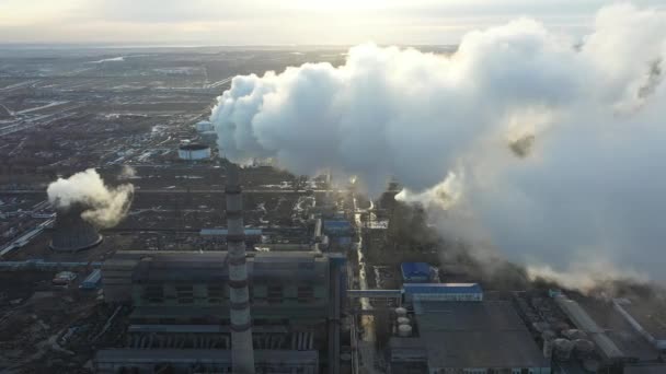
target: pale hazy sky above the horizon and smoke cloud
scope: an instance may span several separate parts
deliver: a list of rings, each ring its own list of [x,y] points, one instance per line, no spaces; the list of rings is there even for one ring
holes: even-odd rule
[[[457,44],[520,16],[585,35],[608,0],[0,0],[0,44]],[[664,0],[634,0],[664,7]]]

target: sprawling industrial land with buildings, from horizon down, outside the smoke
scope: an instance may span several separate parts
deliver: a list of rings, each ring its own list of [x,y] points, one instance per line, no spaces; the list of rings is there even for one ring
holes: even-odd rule
[[[232,78],[342,49],[1,54],[2,373],[666,372],[658,294],[485,271],[399,182],[236,170],[209,121]],[[87,170],[113,223],[50,197]]]

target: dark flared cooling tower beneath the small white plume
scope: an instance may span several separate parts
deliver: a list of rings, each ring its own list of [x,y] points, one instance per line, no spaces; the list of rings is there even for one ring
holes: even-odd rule
[[[56,209],[56,224],[50,241],[50,248],[57,252],[78,252],[102,243],[102,235],[89,222],[81,218],[85,208],[72,204],[69,208]]]

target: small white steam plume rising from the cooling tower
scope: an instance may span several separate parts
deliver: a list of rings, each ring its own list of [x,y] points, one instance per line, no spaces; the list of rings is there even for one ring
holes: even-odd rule
[[[127,214],[134,186],[108,187],[94,168],[77,173],[67,179],[48,185],[48,201],[56,209],[68,209],[80,203],[85,210],[81,217],[99,227],[113,227]]]

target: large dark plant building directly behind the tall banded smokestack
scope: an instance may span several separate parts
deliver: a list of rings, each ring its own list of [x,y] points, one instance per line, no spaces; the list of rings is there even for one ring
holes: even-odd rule
[[[317,252],[259,252],[250,254],[246,261],[257,371],[274,365],[286,373],[307,373],[312,361],[295,358],[310,352],[308,357],[317,357],[317,373],[338,373],[345,258]],[[123,301],[118,297],[122,294],[131,297],[124,301],[131,303],[134,311],[129,316],[129,343],[123,350],[142,348],[142,362],[153,362],[173,348],[205,350],[213,344],[220,358],[230,354],[227,262],[227,252],[115,254],[104,264],[103,287],[105,299]],[[284,353],[289,358],[284,361],[285,355],[279,360],[271,355],[277,361],[260,364],[265,350],[294,354]],[[122,362],[120,353],[113,357],[115,367],[138,367],[136,362]],[[172,364],[186,366],[180,357],[173,355]],[[106,360],[103,355],[100,359]],[[302,362],[302,366],[296,362]],[[208,367],[215,371],[218,366],[211,363]]]

